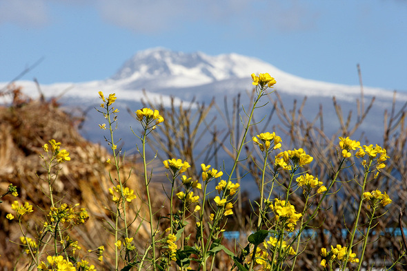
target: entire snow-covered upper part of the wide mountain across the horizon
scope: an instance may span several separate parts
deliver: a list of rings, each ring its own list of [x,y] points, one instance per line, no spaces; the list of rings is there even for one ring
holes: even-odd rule
[[[356,100],[361,98],[359,86],[300,78],[257,58],[239,54],[221,54],[219,56],[208,56],[202,52],[187,54],[161,47],[137,52],[118,69],[116,74],[106,80],[41,85],[41,91],[46,97],[63,94],[61,102],[64,105],[67,107],[79,106],[82,109],[99,105],[98,91],[103,91],[105,94],[115,93],[117,107],[121,106],[123,109],[128,107],[132,111],[139,109],[141,100],[146,100],[146,98],[152,102],[169,105],[171,101],[179,104],[189,102],[192,98],[195,98],[197,102],[209,102],[215,97],[219,101],[219,105],[222,105],[224,96],[233,98],[238,93],[246,95],[246,91],[252,89],[250,74],[265,72],[277,80],[275,89],[284,99],[284,105],[288,109],[292,105],[292,100],[301,100],[304,96],[308,96],[303,111],[304,115],[312,118],[319,110],[319,105],[322,104],[324,114],[326,114],[324,118],[332,129],[337,128],[338,125],[337,120],[329,120],[329,118],[336,118],[335,111],[332,110],[332,96],[341,102],[344,112],[349,109],[356,111]],[[6,83],[0,83],[0,89],[3,89],[5,85]],[[33,82],[21,81],[17,82],[17,85],[21,85],[26,94],[38,96],[37,86]],[[143,89],[146,89],[146,96]],[[376,102],[375,107],[370,111],[372,123],[367,123],[365,128],[376,131],[377,124],[382,127],[383,122],[378,120],[383,119],[384,109],[391,107],[393,91],[364,87],[365,99],[370,100],[373,96],[376,97]],[[175,98],[172,100],[171,97]],[[397,105],[406,101],[407,94],[397,94]],[[7,102],[7,100],[0,100],[0,102]],[[262,113],[266,114],[268,109],[263,110]],[[97,122],[97,118],[99,116],[90,115],[89,124],[85,129],[89,138],[93,137],[94,130],[97,131],[97,124],[91,123]],[[123,127],[129,127],[132,122],[131,116],[126,112],[121,115]],[[381,133],[378,134],[381,135]],[[126,136],[123,137],[126,138]]]

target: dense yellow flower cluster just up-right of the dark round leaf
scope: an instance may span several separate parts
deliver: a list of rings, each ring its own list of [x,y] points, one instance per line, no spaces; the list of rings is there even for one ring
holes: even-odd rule
[[[276,221],[282,221],[288,232],[295,230],[298,219],[302,217],[300,213],[295,211],[294,206],[285,200],[275,199],[275,204],[272,206],[272,210],[275,213]]]

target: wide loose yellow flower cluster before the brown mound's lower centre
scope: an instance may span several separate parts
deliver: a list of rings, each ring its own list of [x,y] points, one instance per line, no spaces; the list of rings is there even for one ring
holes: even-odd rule
[[[59,221],[63,223],[72,223],[74,225],[85,224],[89,219],[88,212],[85,208],[81,208],[79,211],[75,211],[75,207],[79,204],[75,204],[74,207],[68,206],[68,204],[61,204],[59,207],[51,207],[48,217],[50,221]]]

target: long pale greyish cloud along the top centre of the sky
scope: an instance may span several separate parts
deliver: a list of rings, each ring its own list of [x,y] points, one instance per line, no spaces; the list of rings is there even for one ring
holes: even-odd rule
[[[106,21],[146,34],[195,21],[246,29],[262,23],[268,30],[292,32],[315,27],[319,18],[317,12],[295,0],[283,4],[277,0],[99,0],[94,3]]]

